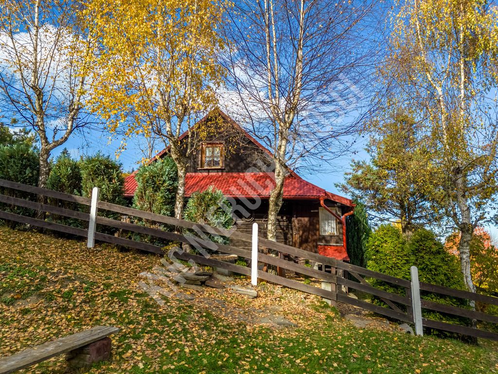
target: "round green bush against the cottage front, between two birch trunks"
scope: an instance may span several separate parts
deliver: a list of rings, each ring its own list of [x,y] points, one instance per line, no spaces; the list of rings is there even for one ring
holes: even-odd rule
[[[231,228],[234,224],[230,202],[222,191],[212,186],[203,192],[192,193],[183,216],[188,221],[219,228]],[[219,235],[208,235],[208,237],[215,243],[228,243],[227,238]]]

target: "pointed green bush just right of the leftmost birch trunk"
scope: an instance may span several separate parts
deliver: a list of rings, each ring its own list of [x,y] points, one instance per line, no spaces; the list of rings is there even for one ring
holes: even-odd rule
[[[69,152],[64,149],[57,157],[55,164],[52,166],[50,175],[47,180],[47,188],[53,189],[71,195],[81,196],[81,170],[80,165],[76,160],[73,160]],[[50,197],[48,202],[61,208],[79,211],[80,206],[76,202],[61,200]],[[87,227],[88,224],[83,223],[79,219],[65,217],[58,214],[50,214],[48,219],[52,222],[61,223],[73,227]]]

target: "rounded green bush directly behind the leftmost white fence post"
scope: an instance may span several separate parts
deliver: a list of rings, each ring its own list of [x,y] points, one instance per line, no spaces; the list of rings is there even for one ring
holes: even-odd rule
[[[125,204],[123,197],[124,178],[120,163],[99,152],[95,156],[85,157],[79,162],[79,165],[84,197],[91,197],[93,187],[99,187],[100,200],[118,205]],[[99,215],[101,214],[107,218],[120,219],[119,213],[100,209]],[[98,225],[97,231],[114,234],[117,229]]]

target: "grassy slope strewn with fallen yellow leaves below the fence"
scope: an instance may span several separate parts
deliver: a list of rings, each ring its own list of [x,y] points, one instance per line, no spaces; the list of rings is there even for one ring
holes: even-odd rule
[[[89,252],[82,242],[0,227],[0,355],[114,325],[122,329],[114,359],[91,373],[498,373],[494,343],[357,329],[291,290],[259,286],[262,297],[250,302],[216,297],[239,308],[281,305],[295,329],[248,326],[197,301],[165,299],[160,307],[137,285],[137,274],[156,264],[151,255]],[[58,357],[32,372],[66,370]]]

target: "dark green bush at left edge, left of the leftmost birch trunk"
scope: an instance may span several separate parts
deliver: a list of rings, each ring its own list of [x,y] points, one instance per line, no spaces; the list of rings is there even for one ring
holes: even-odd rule
[[[24,185],[37,186],[39,174],[38,152],[26,143],[0,146],[0,179],[22,183]],[[22,191],[0,187],[0,193],[22,199],[35,200],[36,196]],[[0,203],[0,209],[34,217],[36,211],[11,204]],[[11,228],[15,228],[18,223],[5,220]]]

